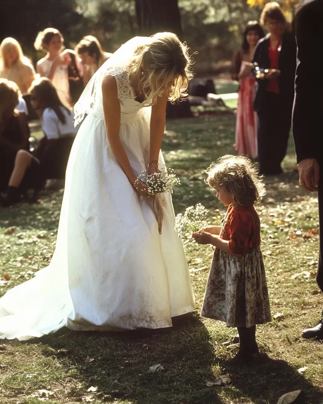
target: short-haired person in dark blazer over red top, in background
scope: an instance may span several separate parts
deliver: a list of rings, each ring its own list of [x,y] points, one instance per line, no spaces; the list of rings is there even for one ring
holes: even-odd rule
[[[286,155],[292,122],[296,41],[278,3],[266,4],[260,23],[268,34],[258,42],[253,59],[259,172],[277,175],[283,172],[281,162]]]

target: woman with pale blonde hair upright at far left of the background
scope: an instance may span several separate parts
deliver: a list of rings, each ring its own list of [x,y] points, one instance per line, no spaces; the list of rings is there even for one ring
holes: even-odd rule
[[[21,46],[14,38],[5,38],[0,45],[0,78],[15,82],[22,95],[35,79],[35,69],[23,55]]]

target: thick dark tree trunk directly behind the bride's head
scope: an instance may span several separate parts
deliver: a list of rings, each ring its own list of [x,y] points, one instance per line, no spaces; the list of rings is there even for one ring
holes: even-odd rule
[[[143,35],[156,32],[173,32],[183,40],[178,0],[135,0],[138,27]],[[167,118],[190,118],[192,116],[188,101],[171,104],[168,101]]]

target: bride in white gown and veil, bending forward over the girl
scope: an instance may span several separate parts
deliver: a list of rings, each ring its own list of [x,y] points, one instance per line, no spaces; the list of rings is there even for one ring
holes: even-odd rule
[[[75,106],[76,123],[85,119],[67,164],[54,255],[0,299],[1,338],[63,326],[170,327],[193,310],[171,196],[158,197],[161,227],[136,180],[164,164],[166,102],[187,96],[190,64],[185,44],[164,32],[126,42],[91,78]]]

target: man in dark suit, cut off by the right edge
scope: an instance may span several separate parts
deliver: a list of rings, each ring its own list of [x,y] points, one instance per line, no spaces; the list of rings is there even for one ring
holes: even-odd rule
[[[323,292],[323,0],[304,2],[296,14],[297,67],[293,136],[300,187],[318,191],[320,255],[317,284]],[[323,310],[322,310],[323,317]],[[323,338],[323,320],[302,332],[304,338]]]

